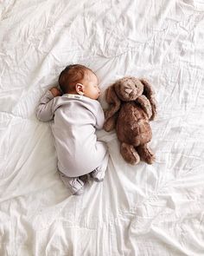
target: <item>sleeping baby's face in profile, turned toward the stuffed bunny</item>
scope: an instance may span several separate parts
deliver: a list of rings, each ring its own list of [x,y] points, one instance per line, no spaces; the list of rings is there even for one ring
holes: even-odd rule
[[[86,97],[89,97],[92,100],[97,100],[99,98],[99,81],[95,74],[91,71],[88,72],[88,75],[85,75],[81,83],[84,85],[83,92]]]

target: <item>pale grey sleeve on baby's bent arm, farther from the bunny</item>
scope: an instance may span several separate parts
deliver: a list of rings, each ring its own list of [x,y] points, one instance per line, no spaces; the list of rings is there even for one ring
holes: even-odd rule
[[[54,117],[53,112],[54,95],[48,90],[41,97],[40,103],[36,108],[36,115],[40,121],[51,121]]]

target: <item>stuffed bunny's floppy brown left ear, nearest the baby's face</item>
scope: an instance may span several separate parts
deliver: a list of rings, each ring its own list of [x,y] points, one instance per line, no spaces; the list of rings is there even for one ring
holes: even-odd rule
[[[120,108],[120,100],[115,92],[114,84],[106,90],[106,102],[110,104],[110,107],[105,111],[105,120],[111,118]]]

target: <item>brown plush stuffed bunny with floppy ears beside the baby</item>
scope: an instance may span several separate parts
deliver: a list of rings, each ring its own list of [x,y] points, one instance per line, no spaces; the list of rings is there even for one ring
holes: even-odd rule
[[[156,116],[155,92],[144,79],[124,77],[106,91],[110,108],[105,111],[105,131],[116,128],[121,141],[120,153],[124,160],[137,164],[140,159],[148,164],[155,156],[147,143],[152,138],[150,121]]]

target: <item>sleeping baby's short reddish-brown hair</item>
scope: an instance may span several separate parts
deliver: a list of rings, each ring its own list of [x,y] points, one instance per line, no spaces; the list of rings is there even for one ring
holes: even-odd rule
[[[88,69],[84,65],[68,65],[64,70],[61,71],[61,75],[59,76],[58,82],[61,87],[61,91],[64,94],[71,92],[75,83],[80,82],[80,80],[82,80],[89,71],[93,73],[92,69]]]

